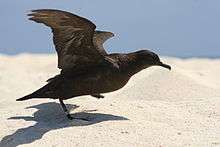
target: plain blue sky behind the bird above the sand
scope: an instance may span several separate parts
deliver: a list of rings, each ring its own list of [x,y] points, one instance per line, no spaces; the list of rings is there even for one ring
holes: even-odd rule
[[[54,53],[48,27],[29,10],[67,10],[112,31],[108,52],[152,49],[160,55],[220,57],[219,0],[1,0],[0,53]]]

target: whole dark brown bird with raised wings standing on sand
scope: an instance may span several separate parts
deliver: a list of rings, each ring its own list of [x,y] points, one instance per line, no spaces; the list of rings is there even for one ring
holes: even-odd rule
[[[45,86],[17,101],[58,99],[66,117],[77,119],[71,116],[64,100],[83,95],[104,98],[104,93],[123,88],[133,75],[151,66],[171,70],[150,50],[108,54],[103,44],[114,33],[96,30],[96,25],[84,17],[56,9],[32,10],[28,16],[51,28],[61,71]]]

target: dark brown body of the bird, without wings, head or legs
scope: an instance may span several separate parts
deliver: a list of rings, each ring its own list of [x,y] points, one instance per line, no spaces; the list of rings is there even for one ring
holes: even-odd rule
[[[136,62],[132,54],[110,54],[109,57],[119,65],[119,70],[108,64],[90,66],[78,73],[70,69],[49,79],[47,85],[25,98],[64,100],[82,95],[113,92],[124,87],[132,75],[142,69],[131,66]]]

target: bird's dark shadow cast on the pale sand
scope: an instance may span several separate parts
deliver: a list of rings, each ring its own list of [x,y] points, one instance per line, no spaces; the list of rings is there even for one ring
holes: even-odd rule
[[[78,107],[79,106],[76,105],[67,105],[67,108],[69,110],[76,109]],[[76,116],[77,118],[86,118],[89,121],[78,119],[68,120],[62,112],[62,110],[59,110],[60,104],[54,102],[35,105],[27,107],[26,109],[29,108],[38,109],[34,113],[33,117],[16,116],[8,119],[23,119],[25,121],[35,121],[36,123],[33,126],[18,129],[13,134],[5,136],[0,142],[1,147],[13,147],[22,144],[32,143],[38,139],[41,139],[45,133],[60,128],[67,128],[73,126],[88,126],[99,122],[111,120],[128,120],[125,117],[115,116],[111,114],[89,113],[96,110],[84,111],[72,115],[73,117]]]

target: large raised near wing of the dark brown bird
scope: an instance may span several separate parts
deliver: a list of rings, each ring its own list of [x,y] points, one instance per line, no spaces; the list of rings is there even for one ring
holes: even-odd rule
[[[58,68],[70,69],[97,63],[103,55],[94,47],[96,26],[89,20],[61,10],[33,10],[29,19],[49,26],[58,53]]]

